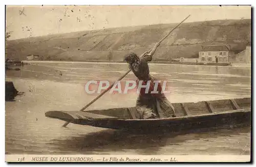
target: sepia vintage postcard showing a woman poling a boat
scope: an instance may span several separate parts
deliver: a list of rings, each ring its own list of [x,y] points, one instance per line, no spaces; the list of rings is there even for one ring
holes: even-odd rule
[[[6,6],[6,162],[251,161],[251,6]]]

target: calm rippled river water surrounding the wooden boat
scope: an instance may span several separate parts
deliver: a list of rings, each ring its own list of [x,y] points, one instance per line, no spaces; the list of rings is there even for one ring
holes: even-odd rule
[[[114,82],[127,71],[122,63],[32,63],[7,71],[25,96],[6,102],[7,154],[250,154],[250,127],[189,134],[131,134],[70,124],[45,117],[49,110],[79,110],[98,94],[87,94],[89,80]],[[250,68],[150,64],[151,74],[168,81],[172,103],[250,97]],[[62,74],[62,75],[60,75]],[[124,79],[136,80],[130,73]],[[90,109],[134,106],[136,93],[106,93]]]

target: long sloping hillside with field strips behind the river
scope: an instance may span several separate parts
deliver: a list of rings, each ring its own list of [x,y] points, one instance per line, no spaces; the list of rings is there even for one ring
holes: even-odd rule
[[[25,60],[29,54],[41,60],[121,61],[129,52],[151,49],[177,23],[81,31],[7,41],[9,59]],[[229,44],[245,49],[251,40],[251,20],[212,20],[183,23],[158,47],[154,60],[196,57],[202,45]]]

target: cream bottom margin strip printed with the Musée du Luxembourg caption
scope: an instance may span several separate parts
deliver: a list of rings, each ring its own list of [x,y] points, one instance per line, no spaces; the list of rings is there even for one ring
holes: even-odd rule
[[[249,162],[250,155],[6,155],[7,162]]]

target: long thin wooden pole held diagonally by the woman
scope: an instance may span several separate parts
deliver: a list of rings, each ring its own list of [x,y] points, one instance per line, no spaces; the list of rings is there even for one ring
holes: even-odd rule
[[[170,30],[168,32],[168,34],[166,34],[157,44],[159,45],[167,36],[169,36],[169,34],[171,32],[173,32],[177,27],[179,27],[190,15],[188,15],[186,18],[184,18],[184,20],[182,20],[175,28],[173,28],[172,30]],[[152,50],[152,49],[151,49]],[[142,55],[140,55],[140,57],[144,56],[144,53]],[[117,81],[122,80],[127,74],[129,74],[131,71],[131,69],[129,71],[127,71],[122,77],[120,77]],[[110,87],[108,89],[105,89],[102,93],[99,94],[99,96],[97,96],[95,99],[93,99],[90,103],[88,103],[86,106],[84,106],[82,109],[80,109],[80,111],[85,110],[87,107],[89,107],[91,104],[93,104],[96,100],[98,100],[100,97],[103,96],[103,94],[105,94],[107,91],[109,91],[116,82],[114,82],[112,85],[110,85]],[[62,125],[63,127],[66,127],[69,124],[69,122],[66,122],[64,125]]]

